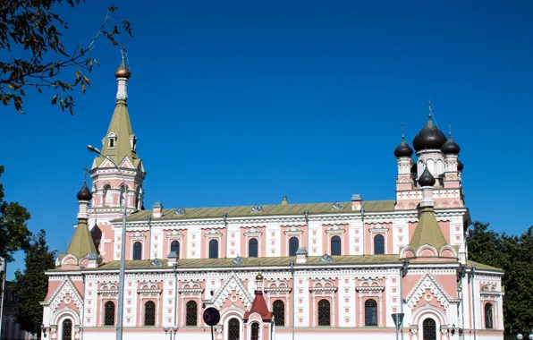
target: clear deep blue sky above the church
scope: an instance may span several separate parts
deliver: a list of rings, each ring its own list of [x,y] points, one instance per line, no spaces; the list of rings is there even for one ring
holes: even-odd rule
[[[461,145],[472,219],[508,233],[533,224],[533,2],[90,3],[61,7],[66,43],[86,44],[110,4],[133,26],[121,42],[146,208],[392,200],[402,123],[411,141],[431,98]],[[102,39],[94,56],[74,116],[53,93],[28,99],[27,115],[0,106],[6,199],[58,251],[74,232],[85,147],[101,145],[114,109],[120,52]],[[8,266],[13,277],[23,254]]]

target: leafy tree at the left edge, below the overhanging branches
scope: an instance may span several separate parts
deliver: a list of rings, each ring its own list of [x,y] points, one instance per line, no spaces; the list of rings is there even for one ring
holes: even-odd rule
[[[0,180],[4,166],[0,166]],[[0,257],[13,261],[13,252],[24,250],[30,244],[30,230],[26,222],[30,213],[18,202],[4,200],[4,184],[0,182]]]

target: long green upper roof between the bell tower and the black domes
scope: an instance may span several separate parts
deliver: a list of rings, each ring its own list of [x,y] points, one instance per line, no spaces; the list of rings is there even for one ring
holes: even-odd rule
[[[252,212],[254,206],[220,207],[220,208],[183,208],[184,215],[174,215],[176,208],[163,209],[163,217],[152,217],[152,210],[140,210],[131,214],[128,221],[146,221],[148,217],[153,220],[189,219],[189,218],[222,218],[227,217],[256,217],[273,215],[303,215],[305,210],[311,214],[325,213],[354,213],[351,202],[342,202],[343,208],[332,208],[334,202],[328,203],[301,203],[301,204],[268,204],[261,206],[262,211]],[[362,205],[366,212],[394,211],[395,200],[367,200]]]

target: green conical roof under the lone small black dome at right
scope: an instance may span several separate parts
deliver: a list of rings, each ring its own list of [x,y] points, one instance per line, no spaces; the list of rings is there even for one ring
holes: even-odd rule
[[[446,245],[443,231],[436,221],[433,208],[424,208],[420,213],[419,224],[415,229],[415,234],[410,240],[410,247],[417,251],[424,244],[432,245],[439,251]]]

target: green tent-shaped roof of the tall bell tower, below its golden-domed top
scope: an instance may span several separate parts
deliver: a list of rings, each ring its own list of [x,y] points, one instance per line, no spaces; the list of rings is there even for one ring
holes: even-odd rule
[[[113,147],[109,144],[109,136],[112,133],[115,137]],[[111,123],[109,123],[106,138],[104,139],[102,154],[111,157],[117,165],[123,161],[124,157],[128,157],[133,163],[133,166],[138,166],[140,159],[137,157],[137,151],[131,148],[131,138],[135,138],[135,135],[131,130],[128,106],[124,100],[117,100],[114,106],[113,117],[111,118]],[[97,157],[97,166],[100,166],[104,159],[104,157]]]

